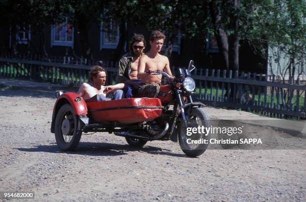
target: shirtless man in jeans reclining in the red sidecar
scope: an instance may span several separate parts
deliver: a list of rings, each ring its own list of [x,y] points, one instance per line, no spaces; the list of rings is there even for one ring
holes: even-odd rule
[[[83,97],[86,101],[105,101],[106,97],[112,100],[118,100],[122,97],[123,84],[117,84],[114,86],[104,86],[106,81],[106,71],[101,66],[93,66],[90,70],[90,80],[92,84],[83,83],[77,94]],[[112,94],[111,94],[112,93]]]

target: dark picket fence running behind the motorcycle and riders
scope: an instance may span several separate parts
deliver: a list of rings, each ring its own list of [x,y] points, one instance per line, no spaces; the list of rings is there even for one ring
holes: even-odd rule
[[[90,66],[98,63],[71,57],[38,60],[34,56],[12,58],[2,55],[0,76],[80,86],[88,81]],[[106,84],[115,83],[116,64],[107,61],[102,63],[107,71]],[[301,85],[299,80],[281,83],[277,76],[269,77],[271,81],[268,81],[267,75],[219,69],[197,69],[192,74],[197,86],[196,98],[204,104],[243,109],[278,118],[290,116],[305,119],[306,86]]]

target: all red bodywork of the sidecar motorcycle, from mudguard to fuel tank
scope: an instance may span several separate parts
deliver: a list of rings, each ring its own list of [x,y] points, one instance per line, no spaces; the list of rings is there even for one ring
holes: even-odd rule
[[[161,86],[163,92],[170,91],[170,85]],[[164,103],[169,102],[173,95],[161,96]],[[76,99],[77,98],[77,99]],[[78,101],[77,101],[78,100]],[[51,132],[54,133],[55,117],[64,104],[70,104],[75,115],[88,115],[93,123],[117,121],[130,124],[150,121],[162,113],[162,105],[158,98],[126,98],[120,100],[86,102],[77,93],[66,92],[60,95],[54,105]]]

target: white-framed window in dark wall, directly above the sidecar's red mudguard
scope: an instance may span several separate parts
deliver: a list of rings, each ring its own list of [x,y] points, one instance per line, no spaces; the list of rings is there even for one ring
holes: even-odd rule
[[[51,25],[51,47],[53,45],[73,47],[74,28],[71,24],[65,23]]]

